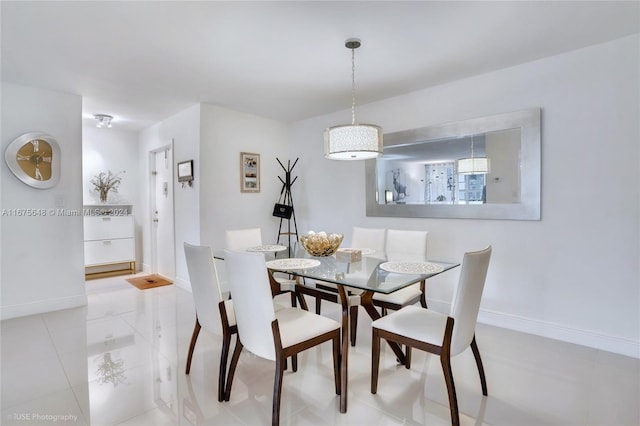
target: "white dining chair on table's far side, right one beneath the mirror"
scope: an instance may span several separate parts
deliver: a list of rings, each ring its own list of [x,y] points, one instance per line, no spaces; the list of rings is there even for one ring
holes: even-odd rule
[[[387,261],[425,261],[428,235],[427,231],[388,229],[385,242]],[[373,295],[373,304],[382,308],[383,314],[388,309],[397,311],[418,302],[426,308],[425,290],[426,283],[423,280],[390,294],[376,293]]]

